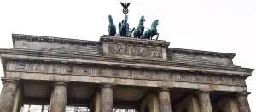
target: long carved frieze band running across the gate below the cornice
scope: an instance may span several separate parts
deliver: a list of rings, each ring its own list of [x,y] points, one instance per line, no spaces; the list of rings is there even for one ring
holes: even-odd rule
[[[194,83],[210,83],[223,85],[246,86],[244,79],[236,76],[219,76],[192,74],[162,70],[140,70],[120,67],[96,65],[68,65],[52,63],[9,62],[9,71],[41,72],[80,76],[104,76],[129,79],[145,79],[160,81],[186,81]]]

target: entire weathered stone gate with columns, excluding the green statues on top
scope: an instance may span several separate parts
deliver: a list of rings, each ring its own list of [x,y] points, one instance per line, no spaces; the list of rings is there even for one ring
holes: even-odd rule
[[[253,69],[234,53],[168,48],[169,42],[122,36],[85,41],[13,34],[0,49],[1,112],[24,104],[91,112],[250,112],[245,80]]]

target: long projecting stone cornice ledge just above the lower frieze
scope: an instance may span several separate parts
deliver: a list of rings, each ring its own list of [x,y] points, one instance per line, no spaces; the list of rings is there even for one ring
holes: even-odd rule
[[[176,70],[176,71],[184,71],[184,72],[195,72],[195,73],[204,73],[204,74],[215,74],[222,76],[242,76],[247,78],[247,76],[251,76],[251,69],[241,68],[241,70],[236,70],[236,68],[222,69],[222,68],[214,68],[214,67],[204,67],[204,66],[193,66],[193,65],[183,65],[183,64],[172,64],[168,62],[140,62],[134,60],[117,60],[113,58],[83,58],[83,59],[75,59],[68,57],[44,57],[44,56],[35,56],[35,55],[10,55],[10,54],[2,54],[3,63],[7,64],[8,61],[33,61],[33,62],[51,62],[51,63],[61,63],[61,64],[95,64],[102,66],[118,66],[118,67],[128,67],[135,69],[148,69],[148,70]],[[4,65],[4,64],[3,64]],[[6,66],[5,66],[6,67]]]

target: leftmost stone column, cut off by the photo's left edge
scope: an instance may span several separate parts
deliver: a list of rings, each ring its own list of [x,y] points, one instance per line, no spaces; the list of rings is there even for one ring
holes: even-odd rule
[[[19,82],[15,80],[4,80],[0,96],[0,112],[12,112],[15,104],[15,92]]]

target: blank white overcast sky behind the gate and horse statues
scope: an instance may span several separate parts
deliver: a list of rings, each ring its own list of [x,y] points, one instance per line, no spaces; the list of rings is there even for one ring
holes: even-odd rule
[[[171,42],[169,47],[236,53],[234,64],[256,68],[255,0],[123,2],[131,2],[130,27],[137,27],[142,15],[146,27],[160,20],[160,39]],[[108,34],[108,14],[116,25],[123,20],[119,1],[0,0],[0,48],[12,47],[11,33],[97,41]],[[0,74],[3,77],[3,70]],[[255,78],[255,72],[247,78],[252,111],[256,111]]]

